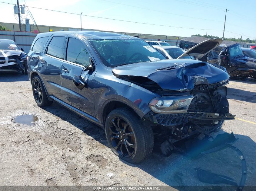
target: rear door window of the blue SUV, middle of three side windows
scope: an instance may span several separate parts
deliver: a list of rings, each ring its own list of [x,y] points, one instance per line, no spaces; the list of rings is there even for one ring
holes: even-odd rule
[[[63,50],[66,37],[53,37],[47,48],[47,54],[64,59]]]

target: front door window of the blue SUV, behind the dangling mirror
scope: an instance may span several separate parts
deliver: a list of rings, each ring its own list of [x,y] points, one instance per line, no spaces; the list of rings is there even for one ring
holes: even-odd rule
[[[90,64],[90,56],[85,45],[78,39],[69,38],[67,47],[67,61],[82,66]]]

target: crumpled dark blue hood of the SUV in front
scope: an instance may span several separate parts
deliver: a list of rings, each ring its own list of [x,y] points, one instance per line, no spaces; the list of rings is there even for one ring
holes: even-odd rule
[[[205,62],[192,59],[159,60],[115,67],[117,78],[142,84],[144,77],[155,82],[164,91],[192,90],[195,83],[214,84],[227,80],[229,75],[223,70]]]

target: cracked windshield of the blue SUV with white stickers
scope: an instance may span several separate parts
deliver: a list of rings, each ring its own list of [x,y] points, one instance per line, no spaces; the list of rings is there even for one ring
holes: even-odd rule
[[[163,60],[165,57],[141,39],[89,40],[108,67]]]

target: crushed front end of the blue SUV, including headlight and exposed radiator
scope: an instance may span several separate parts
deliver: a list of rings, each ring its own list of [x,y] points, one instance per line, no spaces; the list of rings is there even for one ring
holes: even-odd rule
[[[225,120],[234,119],[228,110],[227,83],[206,81],[180,93],[187,95],[163,96],[149,103],[152,111],[144,121],[153,126],[155,146],[160,147],[162,154],[171,154],[174,142],[200,133],[211,136]]]

